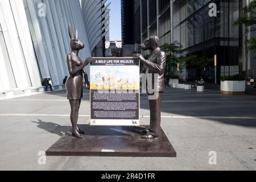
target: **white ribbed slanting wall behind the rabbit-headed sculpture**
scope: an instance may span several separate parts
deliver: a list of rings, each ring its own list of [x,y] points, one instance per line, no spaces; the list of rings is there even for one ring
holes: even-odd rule
[[[43,16],[42,5],[46,7]],[[85,43],[80,51],[85,60],[91,56],[96,32],[88,36],[79,0],[0,1],[0,92],[40,86],[46,77],[52,78],[53,85],[62,84],[69,76],[68,23],[78,28]],[[88,23],[93,27],[94,22]]]

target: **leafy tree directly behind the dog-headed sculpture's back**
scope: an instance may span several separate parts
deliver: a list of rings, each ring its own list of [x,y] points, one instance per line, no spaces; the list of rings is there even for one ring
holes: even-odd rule
[[[160,47],[164,52],[166,52],[166,69],[168,72],[171,71],[172,65],[179,63],[179,55],[183,52],[182,46],[179,42],[175,41],[171,44],[164,44]]]

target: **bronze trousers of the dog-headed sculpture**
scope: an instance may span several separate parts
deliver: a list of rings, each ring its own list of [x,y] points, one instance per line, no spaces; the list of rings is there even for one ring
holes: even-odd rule
[[[160,133],[162,98],[163,92],[159,92],[159,97],[156,100],[149,100],[150,133],[154,137],[159,137]]]

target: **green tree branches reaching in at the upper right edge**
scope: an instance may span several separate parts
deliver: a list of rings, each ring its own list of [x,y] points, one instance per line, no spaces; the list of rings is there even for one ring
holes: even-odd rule
[[[256,0],[251,1],[248,6],[243,8],[242,17],[236,20],[233,24],[234,26],[243,24],[246,29],[245,34],[256,31]],[[256,38],[247,40],[247,43],[248,50],[256,51]]]

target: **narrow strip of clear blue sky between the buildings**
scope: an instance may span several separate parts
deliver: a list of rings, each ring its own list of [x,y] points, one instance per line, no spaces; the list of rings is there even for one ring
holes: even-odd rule
[[[121,36],[121,0],[109,0],[110,5],[110,40],[122,39]]]

